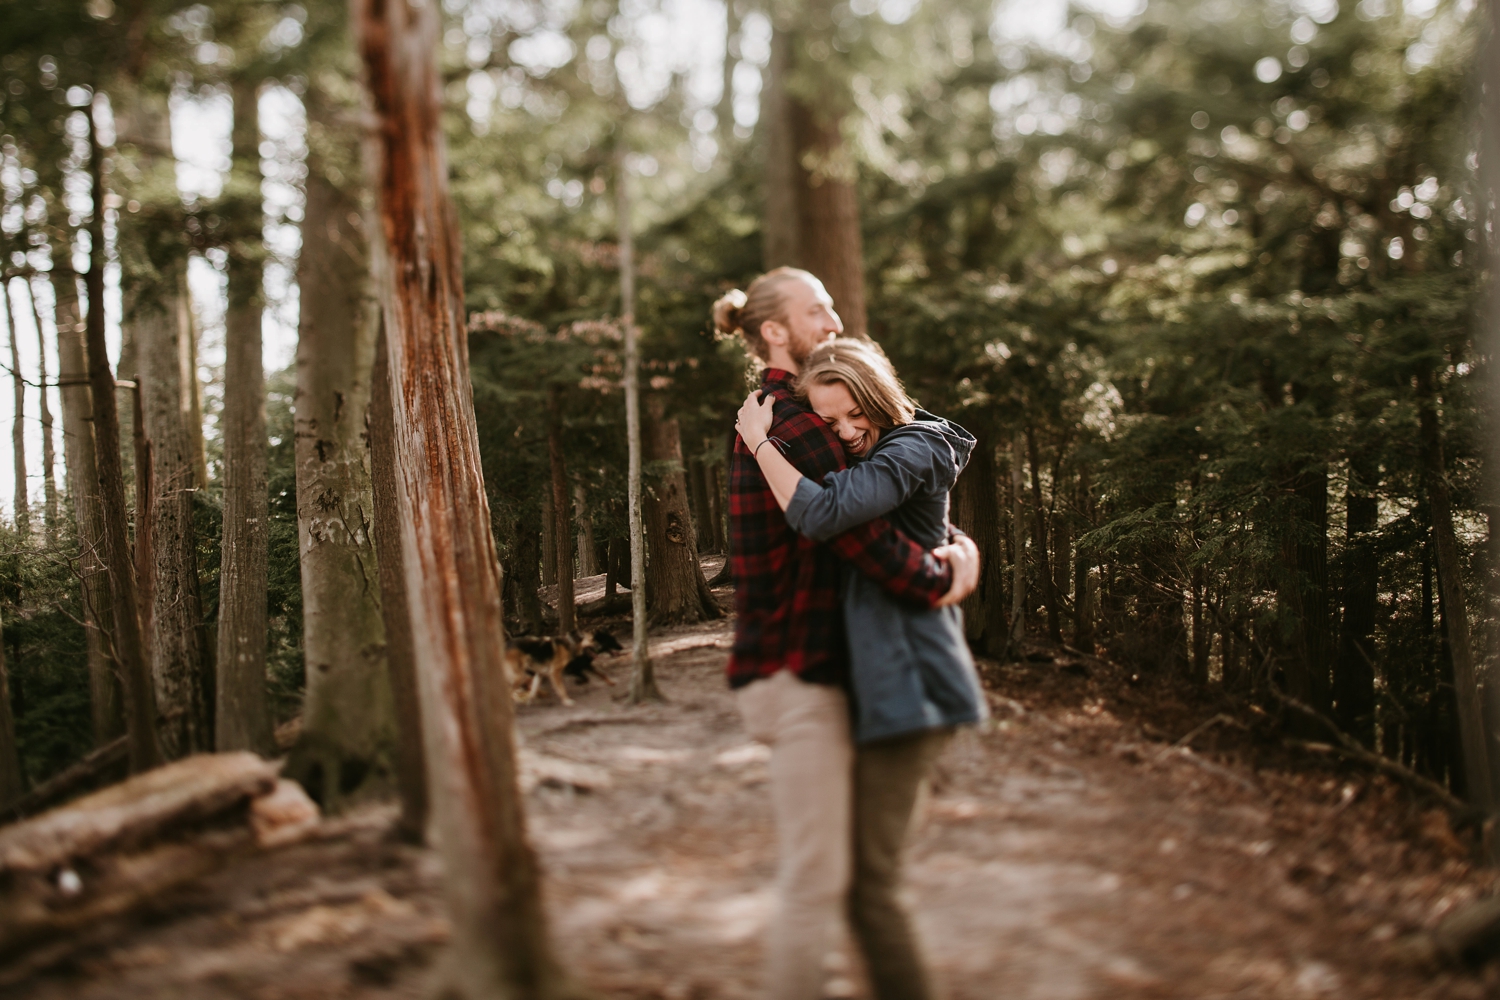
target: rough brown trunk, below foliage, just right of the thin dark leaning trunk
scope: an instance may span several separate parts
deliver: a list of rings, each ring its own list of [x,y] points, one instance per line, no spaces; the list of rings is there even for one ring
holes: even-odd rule
[[[186,274],[178,267],[168,288],[132,295],[130,324],[141,357],[141,403],[150,439],[146,531],[154,555],[152,580],[152,676],[160,712],[162,751],[168,760],[213,750],[212,702],[207,697],[206,649],[200,624],[198,546],[194,531],[194,435],[189,388],[183,382],[183,352],[190,343]],[[150,298],[147,298],[150,295]],[[186,343],[184,343],[186,342]],[[232,387],[230,387],[232,393]],[[264,483],[264,480],[262,480]],[[261,490],[264,498],[264,486]],[[264,501],[262,501],[264,502]],[[262,516],[264,523],[264,516]],[[220,580],[232,574],[240,553],[226,546]],[[220,583],[222,589],[222,583]],[[264,604],[264,595],[261,601]],[[144,616],[142,616],[144,618]],[[264,634],[262,639],[264,642]]]

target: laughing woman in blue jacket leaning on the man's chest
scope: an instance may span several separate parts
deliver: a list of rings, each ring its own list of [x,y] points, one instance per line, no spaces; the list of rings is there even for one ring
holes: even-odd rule
[[[814,349],[796,391],[834,429],[855,465],[822,484],[802,477],[776,448],[770,400],[752,393],[736,427],[788,523],[822,541],[888,517],[921,546],[944,544],[948,493],[969,460],[974,435],[918,409],[890,361],[862,340],[838,339]],[[902,844],[928,766],[956,726],[986,717],[984,697],[956,606],[904,606],[846,570],[844,619],[858,744],[849,921],[876,996],[926,1000],[932,988],[897,898]]]

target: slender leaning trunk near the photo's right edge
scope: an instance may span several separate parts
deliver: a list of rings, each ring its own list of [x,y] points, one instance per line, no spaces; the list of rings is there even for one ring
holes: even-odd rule
[[[1454,532],[1448,466],[1443,459],[1443,433],[1437,424],[1437,411],[1432,403],[1432,378],[1425,370],[1418,375],[1418,433],[1422,445],[1422,478],[1426,486],[1437,549],[1437,586],[1444,607],[1443,630],[1454,661],[1454,699],[1458,709],[1458,735],[1462,742],[1468,801],[1480,810],[1490,810],[1496,795],[1491,784],[1488,738],[1474,652],[1468,637],[1468,600],[1464,597],[1458,537]]]

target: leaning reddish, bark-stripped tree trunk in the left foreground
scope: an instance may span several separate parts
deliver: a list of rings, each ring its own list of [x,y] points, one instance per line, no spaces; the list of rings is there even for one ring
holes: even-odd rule
[[[542,873],[526,843],[500,564],[474,424],[462,247],[447,193],[438,7],[354,0],[375,127],[392,438],[428,787],[453,918],[456,991],[550,1000]]]

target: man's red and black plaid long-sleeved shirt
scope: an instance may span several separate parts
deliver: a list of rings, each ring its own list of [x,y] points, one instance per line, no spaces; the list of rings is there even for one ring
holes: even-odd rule
[[[776,397],[771,436],[798,472],[822,483],[844,468],[838,438],[792,396],[790,372],[768,369],[760,388]],[[729,459],[729,544],[735,574],[729,684],[736,688],[782,669],[816,684],[844,682],[849,654],[838,603],[840,559],[922,607],[934,606],[952,583],[946,562],[884,517],[825,544],[798,535],[738,436]]]

